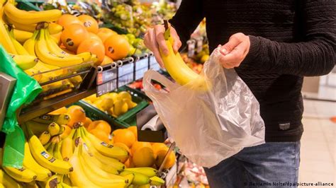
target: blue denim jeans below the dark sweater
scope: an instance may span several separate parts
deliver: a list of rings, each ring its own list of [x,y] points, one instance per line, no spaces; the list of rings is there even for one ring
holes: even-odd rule
[[[211,188],[296,187],[300,141],[244,148],[213,168],[204,168]]]

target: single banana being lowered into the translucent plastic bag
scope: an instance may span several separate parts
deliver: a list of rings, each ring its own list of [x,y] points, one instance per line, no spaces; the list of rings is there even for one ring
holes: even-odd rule
[[[191,86],[192,89],[195,90],[210,89],[211,85],[210,83],[208,83],[206,78],[192,71],[189,68],[189,66],[186,65],[183,59],[181,59],[179,53],[177,54],[174,53],[174,50],[172,48],[174,40],[170,36],[170,27],[167,28],[167,30],[164,32],[164,39],[168,47],[169,54],[165,55],[161,49],[159,50],[159,52],[162,57],[162,61],[164,63],[164,68],[167,69],[169,75],[171,75],[172,78],[174,78],[174,80],[177,81],[177,83],[181,84],[182,86],[193,81],[193,86]]]

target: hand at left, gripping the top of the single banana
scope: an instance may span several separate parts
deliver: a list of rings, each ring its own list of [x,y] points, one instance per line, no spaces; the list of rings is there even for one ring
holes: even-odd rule
[[[164,31],[164,25],[155,25],[154,28],[150,28],[147,31],[144,38],[146,47],[153,52],[155,59],[157,59],[157,62],[161,67],[164,67],[164,64],[161,55],[159,54],[159,49],[161,49],[165,55],[169,54],[166,42],[164,40]],[[179,40],[177,31],[173,27],[170,27],[170,35],[174,39],[173,50],[175,53],[177,53],[182,43],[181,40]]]

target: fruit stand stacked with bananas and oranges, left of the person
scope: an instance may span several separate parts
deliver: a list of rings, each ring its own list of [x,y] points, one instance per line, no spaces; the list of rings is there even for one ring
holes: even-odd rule
[[[0,49],[2,59],[9,61],[0,69],[5,86],[0,93],[6,94],[0,98],[0,114],[6,115],[0,119],[0,187],[178,186],[177,172],[186,167],[183,155],[174,143],[164,141],[164,128],[153,131],[161,131],[156,140],[140,127],[140,114],[152,106],[142,91],[143,75],[153,69],[172,79],[142,37],[147,26],[172,17],[174,4],[0,3]],[[196,66],[192,69],[197,72],[201,68]],[[15,109],[16,117],[9,117],[6,108],[11,107],[11,95],[22,90],[6,87],[14,76],[9,69],[33,78],[39,91]],[[7,149],[12,132],[1,132],[9,118],[24,134],[16,151],[22,158],[15,165]]]

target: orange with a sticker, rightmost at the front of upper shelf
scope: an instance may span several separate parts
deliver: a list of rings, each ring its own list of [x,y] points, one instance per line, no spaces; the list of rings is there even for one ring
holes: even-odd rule
[[[121,35],[112,35],[108,37],[105,42],[105,54],[113,60],[120,60],[125,58],[130,52],[130,44]]]

